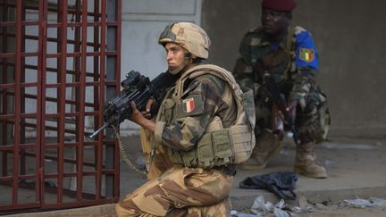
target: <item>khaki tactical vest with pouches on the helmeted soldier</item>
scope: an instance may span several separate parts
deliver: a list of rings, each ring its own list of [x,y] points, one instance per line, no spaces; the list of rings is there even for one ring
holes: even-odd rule
[[[181,103],[176,101],[182,101],[181,96],[187,79],[195,79],[204,74],[214,75],[229,84],[237,104],[236,121],[230,128],[223,129],[220,117],[214,116],[214,119],[206,127],[206,132],[199,139],[197,146],[192,150],[186,152],[170,149],[169,154],[172,163],[205,169],[243,163],[248,160],[255,147],[255,104],[252,90],[243,89],[245,90],[243,92],[230,71],[216,65],[203,64],[184,72],[177,80],[176,87],[171,90],[174,102],[168,103],[171,99],[166,96],[160,108],[160,111],[163,112],[158,115],[157,120],[164,121],[171,117],[174,105]]]

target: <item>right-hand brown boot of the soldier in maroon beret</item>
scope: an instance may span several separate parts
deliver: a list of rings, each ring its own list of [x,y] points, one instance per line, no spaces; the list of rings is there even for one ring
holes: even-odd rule
[[[314,142],[297,145],[294,171],[309,178],[327,178],[326,169],[316,160],[314,146]]]

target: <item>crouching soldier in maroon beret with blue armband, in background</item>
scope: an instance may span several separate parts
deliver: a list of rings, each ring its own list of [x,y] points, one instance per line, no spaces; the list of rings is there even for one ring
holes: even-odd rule
[[[239,46],[233,75],[240,86],[254,89],[256,104],[256,146],[242,168],[262,169],[279,152],[283,135],[277,122],[284,116],[297,145],[294,171],[327,178],[314,146],[327,136],[330,113],[315,83],[318,56],[311,33],[290,27],[295,7],[295,0],[263,0],[262,27],[248,31]],[[278,99],[285,106],[277,104]]]

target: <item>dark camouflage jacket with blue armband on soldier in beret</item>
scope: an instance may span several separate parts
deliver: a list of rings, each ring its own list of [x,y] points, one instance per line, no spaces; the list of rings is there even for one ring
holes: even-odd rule
[[[289,29],[281,43],[276,44],[270,43],[267,37],[262,29],[251,29],[244,36],[233,70],[235,78],[241,86],[256,90],[262,83],[260,73],[268,71],[281,93],[290,100],[300,100],[303,105],[305,96],[315,85],[318,71],[318,57],[311,33],[295,27]]]

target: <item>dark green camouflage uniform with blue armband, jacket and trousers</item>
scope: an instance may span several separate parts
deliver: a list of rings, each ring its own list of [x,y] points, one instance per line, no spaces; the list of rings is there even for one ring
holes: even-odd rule
[[[298,100],[296,129],[299,143],[321,142],[326,137],[325,130],[330,116],[322,122],[325,125],[321,129],[322,117],[319,112],[322,107],[324,113],[329,112],[326,97],[315,84],[318,57],[311,34],[306,29],[296,27],[289,29],[281,43],[271,44],[262,29],[251,29],[239,46],[239,57],[233,74],[240,86],[255,90],[256,148],[257,143],[265,143],[267,140],[273,144],[279,143],[278,135],[271,133],[277,128],[272,96],[261,88],[262,77],[256,72],[261,68],[271,75],[287,102]]]

